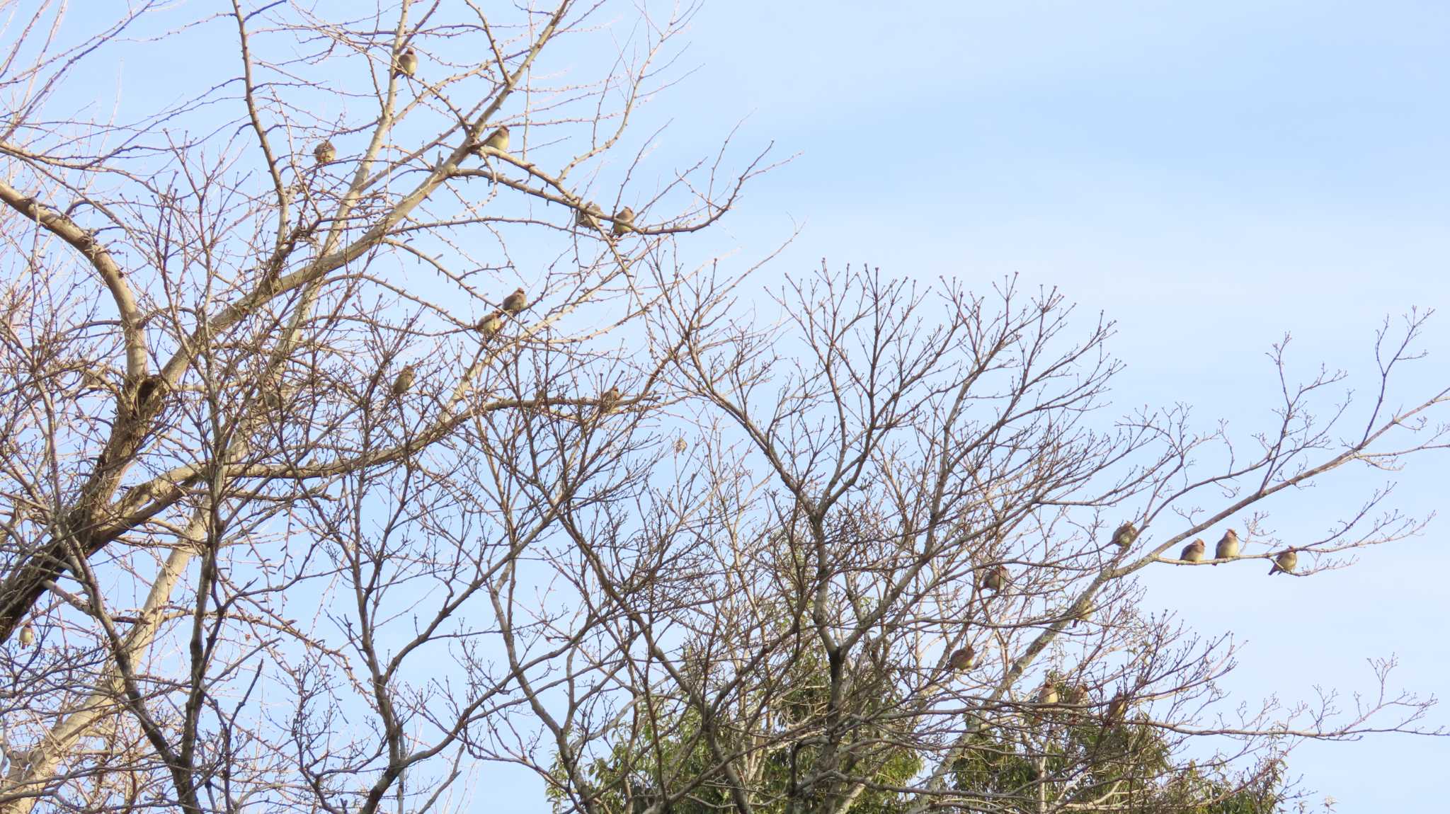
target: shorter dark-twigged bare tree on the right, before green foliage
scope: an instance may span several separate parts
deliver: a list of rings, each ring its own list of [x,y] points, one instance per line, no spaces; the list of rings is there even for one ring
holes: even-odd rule
[[[1433,417],[1450,390],[1389,406],[1422,316],[1380,332],[1380,388],[1357,410],[1333,393],[1338,374],[1293,384],[1276,348],[1279,421],[1246,455],[1183,407],[1109,420],[1112,326],[1073,336],[1056,291],[916,291],[822,268],[780,304],[784,326],[692,336],[671,365],[715,423],[705,472],[655,492],[666,519],[568,523],[589,569],[577,589],[603,595],[590,617],[621,620],[594,663],[634,642],[634,675],[560,727],[561,766],[606,779],[557,771],[561,804],[1272,811],[1295,797],[1282,773],[1296,743],[1440,733],[1421,723],[1433,700],[1393,691],[1389,663],[1353,710],[1334,695],[1222,704],[1232,642],[1147,616],[1135,581],[1267,572],[1286,550],[1306,578],[1417,533],[1385,488],[1321,539],[1282,540],[1267,517],[1312,479],[1444,448]],[[1238,552],[1179,559],[1230,526]],[[1174,762],[1190,740],[1217,758]]]

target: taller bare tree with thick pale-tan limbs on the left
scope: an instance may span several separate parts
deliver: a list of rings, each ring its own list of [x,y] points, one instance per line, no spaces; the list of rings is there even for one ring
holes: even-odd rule
[[[447,807],[564,652],[480,620],[550,500],[639,477],[642,316],[764,169],[642,180],[695,7],[0,12],[0,808]],[[139,48],[203,87],[96,117]]]

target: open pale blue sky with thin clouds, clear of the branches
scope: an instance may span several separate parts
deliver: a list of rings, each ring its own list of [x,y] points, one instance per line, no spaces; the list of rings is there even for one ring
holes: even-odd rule
[[[902,9],[732,1],[696,19],[686,90],[712,103],[661,100],[667,138],[748,114],[748,139],[800,152],[725,225],[747,258],[803,225],[767,281],[828,258],[922,282],[1058,285],[1085,327],[1098,311],[1118,323],[1122,410],[1183,401],[1241,437],[1270,417],[1264,352],[1283,333],[1301,374],[1346,368],[1366,398],[1380,320],[1450,304],[1450,6]],[[1450,313],[1422,345],[1405,401],[1443,387]],[[1276,527],[1318,534],[1386,479],[1396,505],[1443,508],[1447,472],[1446,453],[1346,471],[1276,504]],[[1247,646],[1227,688],[1250,705],[1373,691],[1366,659],[1392,655],[1392,685],[1444,695],[1447,520],[1312,579],[1270,582],[1260,562],[1157,569],[1148,604],[1234,630]],[[1380,736],[1306,744],[1290,769],[1338,811],[1428,813],[1447,762],[1444,740]]]

